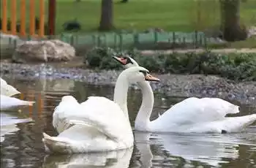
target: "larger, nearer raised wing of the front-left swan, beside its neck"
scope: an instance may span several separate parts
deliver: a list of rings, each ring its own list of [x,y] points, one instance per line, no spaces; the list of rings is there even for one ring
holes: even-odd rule
[[[83,123],[97,127],[112,140],[133,141],[133,137],[130,136],[132,129],[129,120],[118,104],[102,96],[90,96],[80,105],[83,112],[73,113],[76,115],[75,118],[70,115],[68,117],[70,123]],[[78,119],[74,122],[76,118]]]

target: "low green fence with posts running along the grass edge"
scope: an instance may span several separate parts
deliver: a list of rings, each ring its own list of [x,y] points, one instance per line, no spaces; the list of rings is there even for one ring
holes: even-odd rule
[[[101,46],[127,49],[167,49],[176,47],[206,47],[217,39],[208,38],[203,32],[157,32],[105,33],[105,34],[61,34],[60,39],[73,46]]]

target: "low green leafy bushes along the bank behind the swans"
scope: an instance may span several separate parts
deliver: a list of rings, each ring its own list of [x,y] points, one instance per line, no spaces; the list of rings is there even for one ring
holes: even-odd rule
[[[122,69],[112,56],[128,54],[151,72],[175,74],[220,75],[230,80],[256,81],[256,53],[218,54],[171,53],[141,56],[138,50],[118,51],[109,47],[95,47],[86,54],[90,68]]]

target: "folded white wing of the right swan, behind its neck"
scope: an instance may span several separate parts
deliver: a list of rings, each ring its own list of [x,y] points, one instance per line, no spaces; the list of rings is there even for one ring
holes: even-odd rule
[[[161,127],[184,126],[223,120],[228,113],[238,112],[238,106],[222,99],[192,97],[173,105],[153,123]]]

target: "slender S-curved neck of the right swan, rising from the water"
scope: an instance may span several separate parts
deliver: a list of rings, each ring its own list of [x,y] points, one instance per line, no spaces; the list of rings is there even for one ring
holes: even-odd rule
[[[140,110],[135,119],[135,129],[141,131],[149,131],[150,115],[154,106],[154,93],[152,91],[151,85],[148,82],[138,83],[139,88],[142,93],[142,103]]]

